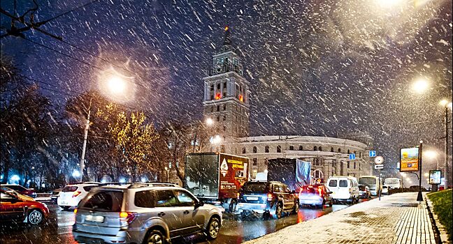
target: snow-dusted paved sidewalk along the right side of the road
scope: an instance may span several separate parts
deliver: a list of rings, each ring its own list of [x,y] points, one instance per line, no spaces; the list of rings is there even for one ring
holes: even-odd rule
[[[416,199],[406,192],[365,201],[246,243],[436,243],[425,201]]]

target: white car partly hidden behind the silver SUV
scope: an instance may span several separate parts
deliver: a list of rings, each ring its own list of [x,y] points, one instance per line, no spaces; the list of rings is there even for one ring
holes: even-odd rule
[[[94,187],[99,185],[92,183],[81,183],[75,185],[66,185],[57,198],[57,204],[64,210],[78,206],[82,200]]]

